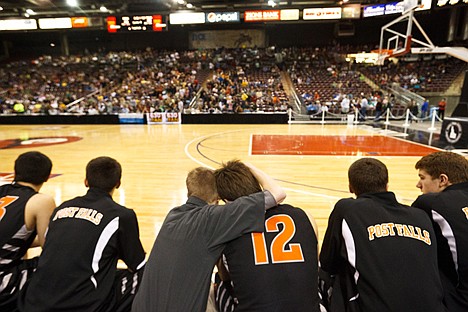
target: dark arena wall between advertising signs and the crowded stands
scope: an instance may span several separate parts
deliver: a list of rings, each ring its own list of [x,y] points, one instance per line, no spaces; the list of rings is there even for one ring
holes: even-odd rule
[[[447,45],[447,34],[451,11],[432,9],[418,12],[416,17],[435,45]],[[279,23],[239,23],[235,25],[169,25],[168,31],[160,33],[117,33],[102,30],[61,30],[35,32],[0,32],[0,40],[8,47],[10,57],[35,57],[43,54],[60,55],[60,42],[67,37],[70,54],[85,51],[95,52],[138,50],[146,47],[156,49],[187,50],[189,36],[194,31],[246,30],[265,31],[266,45],[278,47],[310,47],[332,43],[379,44],[381,27],[396,19],[398,15],[349,20],[354,26],[354,35],[339,36],[338,21],[299,21]],[[442,22],[444,21],[444,22]],[[436,23],[437,22],[437,23]],[[343,23],[343,21],[341,21]],[[413,27],[415,28],[415,27]],[[54,43],[55,46],[51,46]],[[4,49],[0,51],[5,53]]]

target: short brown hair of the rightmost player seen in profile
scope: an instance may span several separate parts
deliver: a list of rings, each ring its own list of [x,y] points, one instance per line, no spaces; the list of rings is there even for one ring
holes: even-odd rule
[[[433,179],[446,174],[453,184],[468,181],[468,160],[456,153],[434,152],[422,157],[414,167],[426,171]]]

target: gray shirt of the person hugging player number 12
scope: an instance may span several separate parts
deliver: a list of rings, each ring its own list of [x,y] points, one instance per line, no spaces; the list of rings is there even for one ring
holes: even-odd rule
[[[214,265],[225,244],[263,231],[265,209],[276,205],[270,192],[208,205],[197,197],[172,209],[156,238],[132,311],[206,310]]]

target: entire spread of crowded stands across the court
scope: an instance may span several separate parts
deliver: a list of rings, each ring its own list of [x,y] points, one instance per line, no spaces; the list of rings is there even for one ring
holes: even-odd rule
[[[348,53],[365,49],[148,48],[43,56],[0,67],[0,113],[286,112],[294,103],[293,93],[308,114],[322,110],[338,114],[343,112],[343,99],[350,100],[352,109],[359,107],[363,96],[375,111],[390,83],[412,92],[443,92],[466,68],[451,57],[411,56],[384,66],[346,61]],[[288,82],[292,88],[286,90]]]

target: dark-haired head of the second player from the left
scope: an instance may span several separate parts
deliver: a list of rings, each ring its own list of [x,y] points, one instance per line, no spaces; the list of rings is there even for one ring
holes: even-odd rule
[[[117,160],[101,156],[86,165],[86,186],[111,192],[120,186],[122,166]]]

